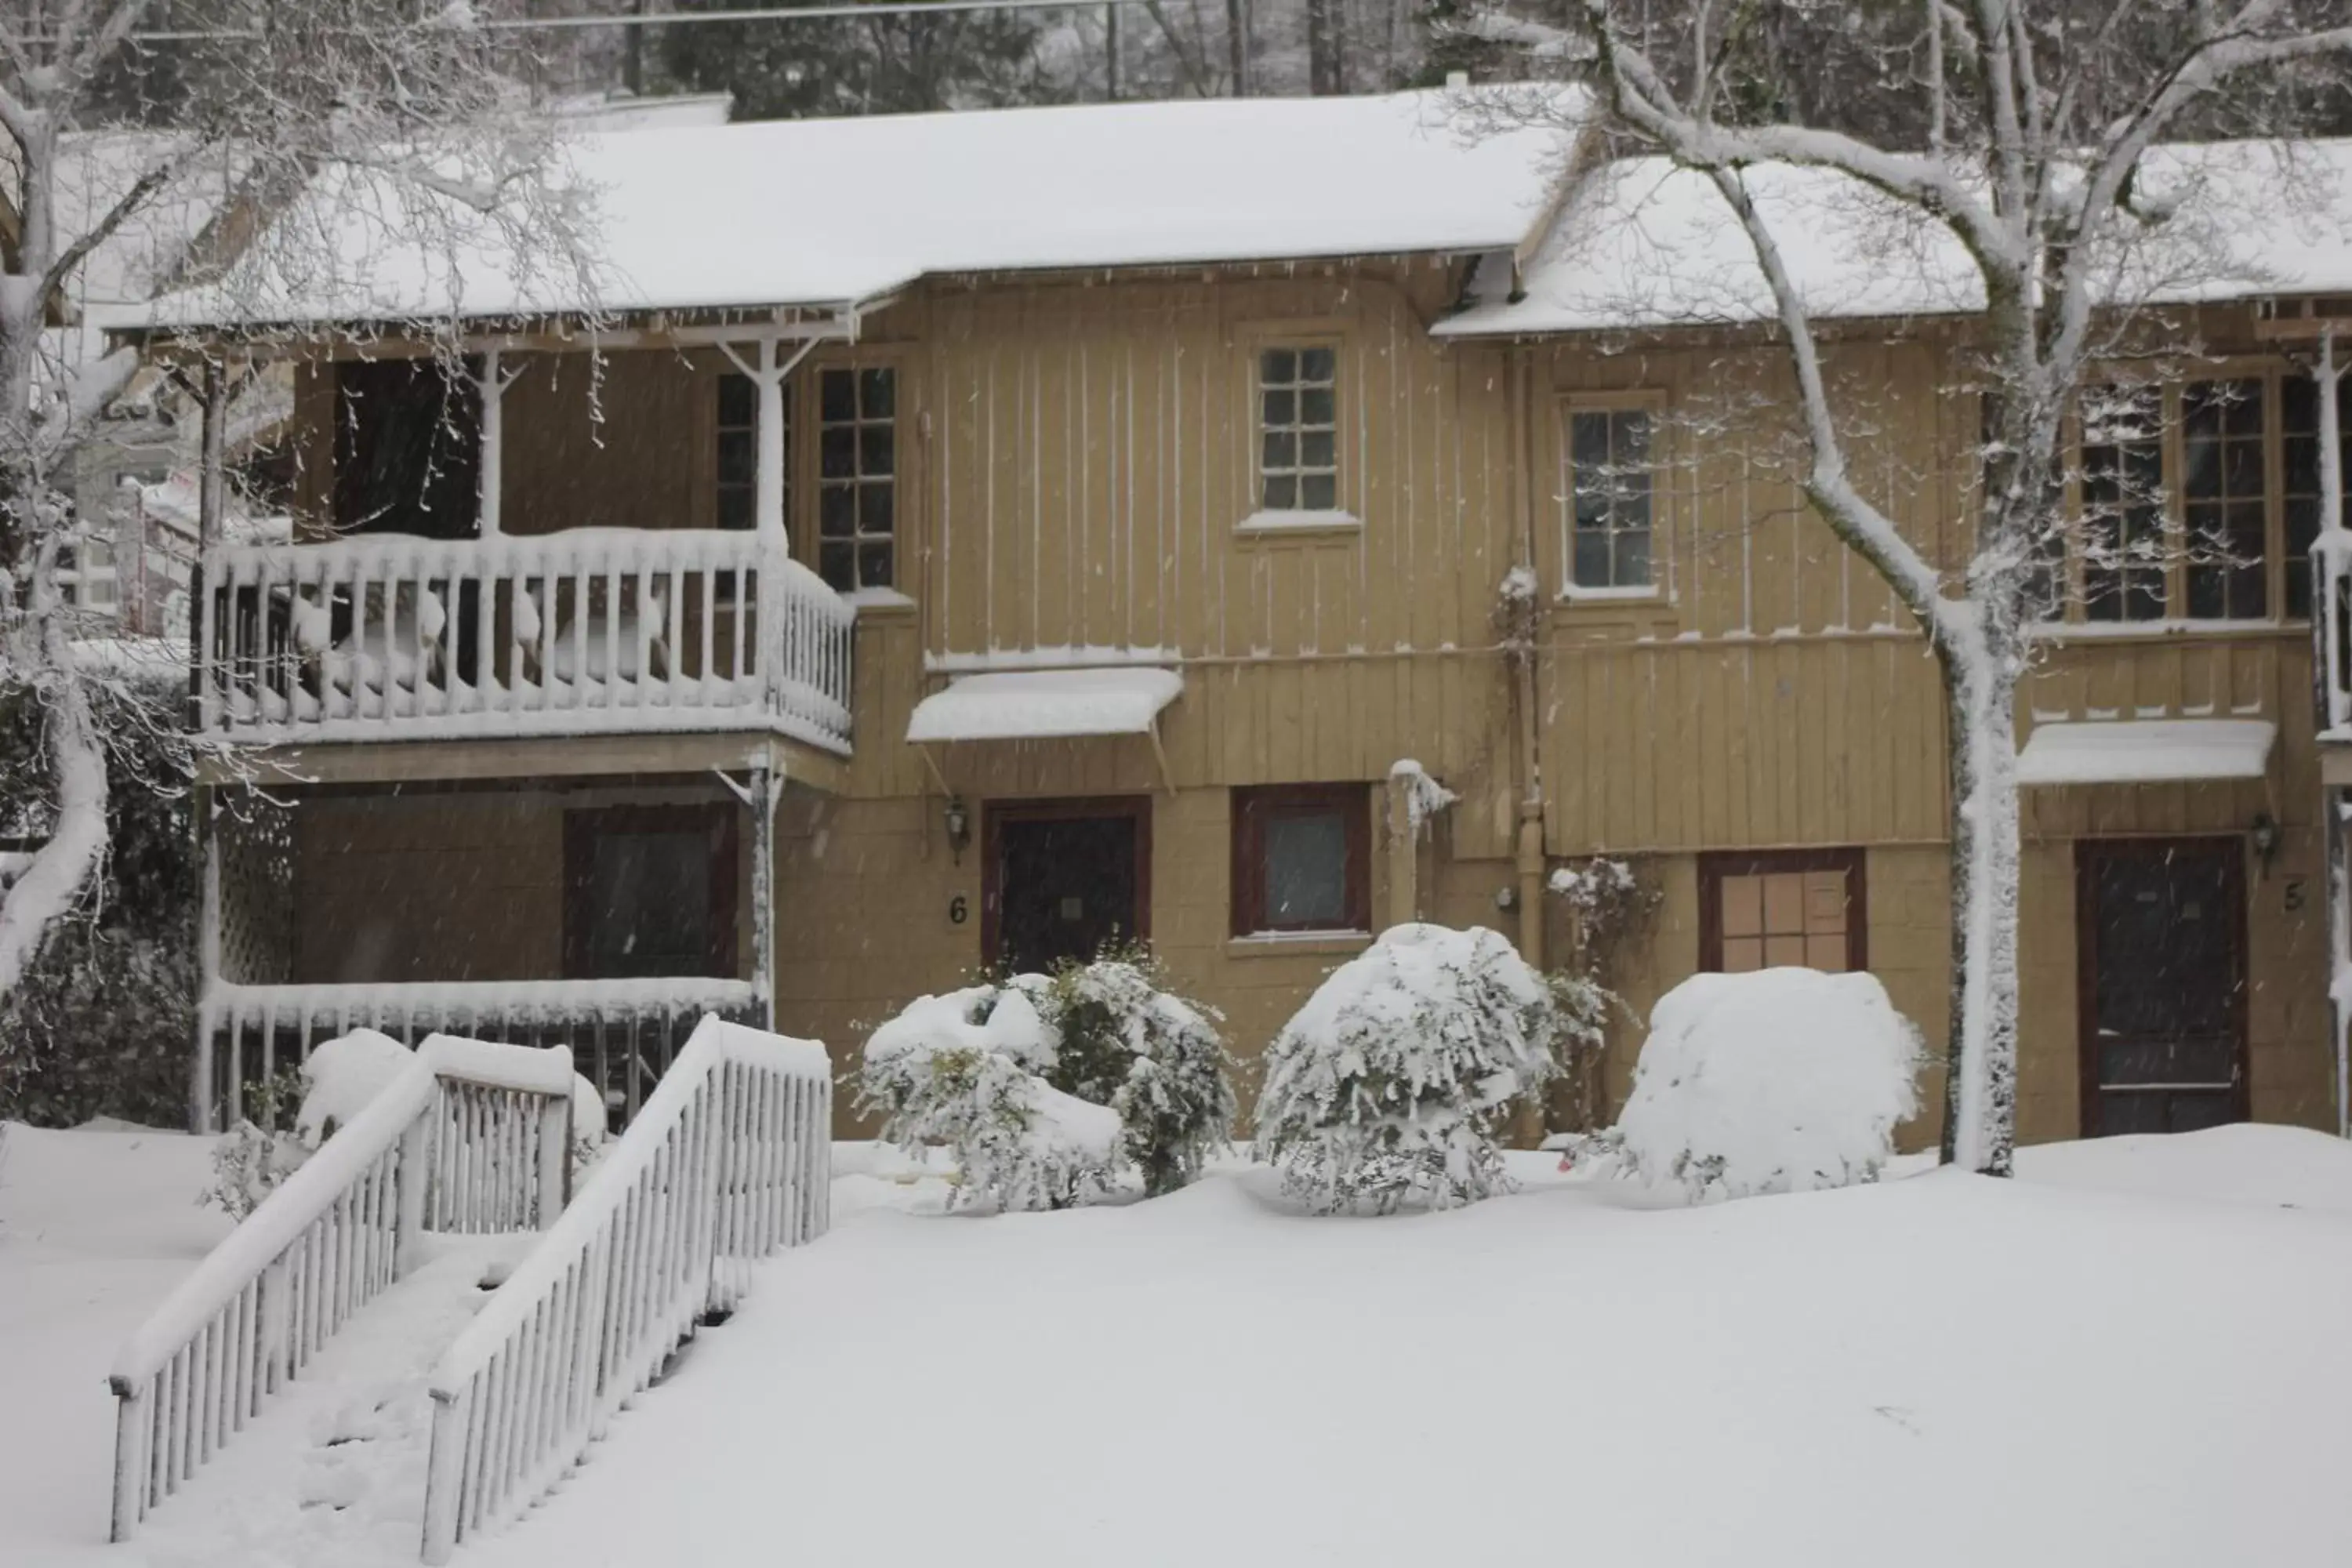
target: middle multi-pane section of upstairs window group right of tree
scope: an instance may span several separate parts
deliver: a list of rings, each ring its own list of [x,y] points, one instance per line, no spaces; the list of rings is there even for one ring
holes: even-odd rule
[[[2180,522],[2187,529],[2190,616],[2270,614],[2263,383],[2197,381],[2180,395]]]

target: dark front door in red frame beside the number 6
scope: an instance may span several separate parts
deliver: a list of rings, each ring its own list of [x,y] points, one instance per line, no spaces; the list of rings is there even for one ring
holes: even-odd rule
[[[1044,971],[1145,936],[1150,820],[1127,797],[988,806],[988,959]]]

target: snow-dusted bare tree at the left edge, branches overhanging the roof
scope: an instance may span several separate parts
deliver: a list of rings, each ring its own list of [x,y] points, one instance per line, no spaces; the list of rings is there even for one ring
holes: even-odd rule
[[[139,710],[78,654],[89,628],[61,585],[85,538],[75,454],[141,374],[78,320],[80,270],[136,244],[165,259],[153,282],[238,320],[296,289],[360,296],[372,247],[348,240],[367,226],[405,261],[489,244],[593,287],[593,205],[564,188],[513,49],[468,0],[0,5],[0,703],[38,705],[52,780],[47,842],[0,903],[0,994],[106,853],[113,715]],[[320,188],[334,212],[308,212]],[[306,221],[275,221],[294,197]],[[454,341],[447,310],[397,324]]]

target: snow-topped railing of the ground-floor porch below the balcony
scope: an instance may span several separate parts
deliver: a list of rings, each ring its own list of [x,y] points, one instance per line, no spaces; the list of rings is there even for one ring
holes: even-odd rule
[[[207,1117],[233,1126],[247,1081],[308,1058],[322,1039],[367,1027],[414,1046],[440,1032],[572,1046],[581,1077],[628,1119],[703,1013],[746,1023],[757,1006],[750,980],[701,976],[393,985],[216,980],[198,1006],[198,1081]]]

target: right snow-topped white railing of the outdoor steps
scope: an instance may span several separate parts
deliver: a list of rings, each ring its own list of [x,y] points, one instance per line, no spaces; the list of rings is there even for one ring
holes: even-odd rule
[[[543,1497],[750,1262],[826,1229],[826,1048],[706,1018],[433,1371],[423,1561]]]

